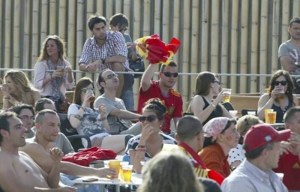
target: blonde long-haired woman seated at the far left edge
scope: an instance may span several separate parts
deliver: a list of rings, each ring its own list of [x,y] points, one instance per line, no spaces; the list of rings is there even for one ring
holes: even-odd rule
[[[27,76],[22,71],[9,70],[4,75],[3,109],[8,109],[18,103],[34,106],[40,98],[39,92],[32,88]]]

